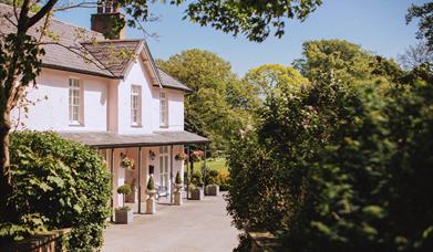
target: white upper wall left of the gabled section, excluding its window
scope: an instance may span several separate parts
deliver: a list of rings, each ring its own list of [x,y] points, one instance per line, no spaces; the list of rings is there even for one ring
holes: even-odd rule
[[[69,78],[82,81],[84,92],[83,125],[72,126],[69,122]],[[34,130],[106,130],[107,122],[107,78],[70,72],[43,69],[37,78],[38,88],[28,88],[28,98],[35,102],[30,105],[28,118],[22,109],[12,112],[12,120],[24,123],[19,129]],[[48,99],[43,99],[47,96]],[[40,99],[39,102],[37,102]],[[20,115],[21,114],[21,115]],[[20,115],[20,116],[19,116]]]

